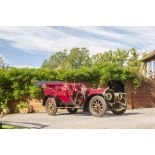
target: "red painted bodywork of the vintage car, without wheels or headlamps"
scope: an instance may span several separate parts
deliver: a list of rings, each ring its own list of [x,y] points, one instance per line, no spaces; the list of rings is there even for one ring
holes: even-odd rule
[[[73,102],[72,96],[77,92],[84,91],[88,97],[94,94],[103,95],[105,94],[106,90],[107,88],[86,88],[82,83],[47,82],[43,84],[45,96],[52,96],[54,98],[58,97],[64,104],[71,104]]]

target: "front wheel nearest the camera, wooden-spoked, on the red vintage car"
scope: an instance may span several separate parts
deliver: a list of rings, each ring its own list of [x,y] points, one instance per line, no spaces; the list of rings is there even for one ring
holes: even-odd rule
[[[89,102],[89,109],[93,116],[102,117],[106,113],[106,102],[101,96],[94,96]]]

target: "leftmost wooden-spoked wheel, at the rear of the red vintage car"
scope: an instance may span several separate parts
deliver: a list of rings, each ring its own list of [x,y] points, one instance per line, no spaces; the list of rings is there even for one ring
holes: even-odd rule
[[[56,105],[56,101],[54,98],[52,97],[49,97],[46,101],[46,112],[49,114],[49,115],[52,115],[54,116],[57,112],[57,105]]]

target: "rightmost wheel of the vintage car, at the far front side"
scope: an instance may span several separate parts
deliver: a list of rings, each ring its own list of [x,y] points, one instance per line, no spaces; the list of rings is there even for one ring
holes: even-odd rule
[[[124,99],[122,99],[121,101],[116,101],[116,103],[111,108],[111,111],[115,115],[122,115],[126,111],[126,109],[127,109],[127,103],[125,102]]]

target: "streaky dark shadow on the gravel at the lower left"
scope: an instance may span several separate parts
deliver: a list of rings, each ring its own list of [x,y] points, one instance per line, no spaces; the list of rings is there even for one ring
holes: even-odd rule
[[[3,124],[7,125],[14,125],[17,127],[23,127],[25,129],[43,129],[48,127],[48,125],[43,125],[39,123],[30,123],[30,122],[10,122],[10,121],[3,121]]]

